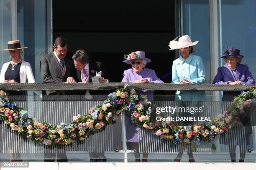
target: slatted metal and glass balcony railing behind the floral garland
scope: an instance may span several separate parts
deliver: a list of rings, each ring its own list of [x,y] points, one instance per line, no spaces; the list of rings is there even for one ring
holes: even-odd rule
[[[1,90],[114,90],[117,85],[126,83],[35,83],[35,84],[0,84]],[[243,91],[256,85],[185,85],[185,84],[147,84],[131,83],[135,89],[140,90],[236,90]],[[103,103],[107,95],[52,95],[42,96],[28,92],[26,96],[10,96],[20,107],[28,110],[28,117],[34,117],[40,122],[49,122],[58,125],[61,122],[69,123],[72,117],[78,114],[86,115],[90,108]],[[154,96],[154,104],[158,107],[185,105],[193,107],[203,106],[203,112],[197,116],[217,117],[228,109],[231,101],[187,101],[178,102],[169,100],[167,97]],[[255,112],[255,110],[253,110]],[[165,116],[171,116],[167,114]],[[170,140],[160,139],[146,129],[140,129],[138,143],[126,143],[126,133],[136,127],[129,125],[125,130],[125,113],[118,120],[113,121],[101,130],[95,130],[89,138],[76,145],[69,146],[45,146],[35,144],[27,140],[26,136],[18,136],[16,131],[11,130],[9,125],[0,124],[0,159],[1,160],[44,160],[44,159],[67,159],[72,161],[135,161],[138,157],[147,158],[148,161],[173,161],[177,154],[183,153],[182,161],[187,161],[187,151],[192,154],[196,161],[223,161],[230,162],[230,153],[246,154],[245,161],[256,161],[256,129],[239,125],[236,130],[230,132],[228,137],[212,140],[211,143],[202,142],[200,145],[174,144]],[[135,125],[136,126],[136,125]],[[126,126],[127,128],[127,126]],[[248,129],[252,130],[248,132]],[[125,142],[124,142],[125,141]],[[216,150],[212,149],[215,144]],[[232,147],[230,147],[232,146]]]

